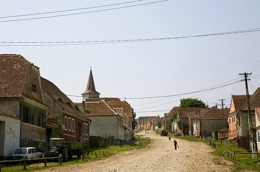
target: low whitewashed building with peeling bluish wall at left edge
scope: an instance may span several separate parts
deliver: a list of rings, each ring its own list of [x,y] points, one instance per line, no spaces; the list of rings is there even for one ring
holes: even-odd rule
[[[20,118],[0,111],[0,161],[10,159],[20,147],[20,126]]]

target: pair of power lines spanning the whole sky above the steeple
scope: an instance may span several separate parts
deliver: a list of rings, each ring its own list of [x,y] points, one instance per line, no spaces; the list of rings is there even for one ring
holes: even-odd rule
[[[168,0],[167,0],[168,1]],[[260,29],[260,28],[258,28]],[[254,32],[260,30],[248,30],[248,31],[236,31],[236,32],[225,32],[215,33],[208,35],[196,35],[196,36],[184,36],[184,37],[172,37],[172,38],[153,38],[153,39],[132,39],[132,40],[110,40],[110,41],[78,41],[78,42],[0,42],[0,43],[82,43],[82,44],[43,44],[43,45],[0,45],[0,46],[54,46],[54,45],[88,45],[88,44],[111,44],[111,43],[126,43],[126,42],[141,42],[141,41],[153,41],[153,40],[165,40],[165,39],[178,39],[178,38],[191,38],[191,37],[202,37],[212,35],[225,35],[232,33],[243,33],[243,32]]]

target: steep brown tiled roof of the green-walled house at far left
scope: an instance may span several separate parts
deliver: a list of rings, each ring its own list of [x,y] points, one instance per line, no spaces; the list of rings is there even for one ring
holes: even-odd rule
[[[0,54],[0,97],[21,98],[32,66],[19,54]]]

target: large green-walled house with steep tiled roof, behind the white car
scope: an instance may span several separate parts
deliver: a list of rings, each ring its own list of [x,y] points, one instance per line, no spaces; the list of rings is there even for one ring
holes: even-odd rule
[[[18,54],[1,54],[0,61],[0,111],[21,119],[18,133],[17,126],[11,126],[16,137],[20,136],[17,146],[45,148],[45,116],[49,107],[44,100],[39,67]],[[4,144],[2,139],[0,144]]]

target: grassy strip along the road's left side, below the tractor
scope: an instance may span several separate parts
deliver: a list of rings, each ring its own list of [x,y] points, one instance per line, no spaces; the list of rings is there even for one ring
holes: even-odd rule
[[[129,146],[110,146],[109,148],[96,148],[96,147],[85,148],[81,150],[82,155],[84,155],[84,160],[82,160],[82,157],[77,158],[76,155],[73,155],[73,158],[71,160],[68,159],[67,162],[62,162],[62,165],[82,164],[88,161],[101,160],[101,159],[108,158],[111,155],[116,154],[118,152],[145,148],[150,143],[149,139],[144,139],[144,138],[140,138],[140,139],[136,138],[136,141],[139,143],[121,144],[121,145],[129,145]],[[103,150],[105,155],[103,154]],[[33,161],[33,164],[26,165],[27,170],[23,169],[23,163],[12,163],[11,165],[1,164],[1,172],[41,171],[47,168],[62,166],[61,164],[59,164],[58,159],[47,161],[46,162],[47,167],[45,167],[44,163],[42,163],[41,161],[36,161],[36,162],[35,161]]]

